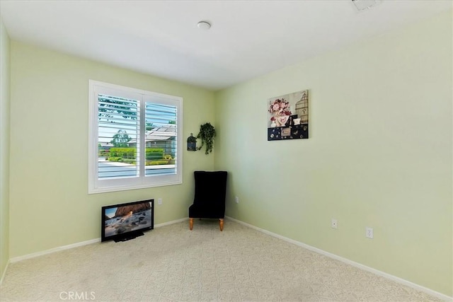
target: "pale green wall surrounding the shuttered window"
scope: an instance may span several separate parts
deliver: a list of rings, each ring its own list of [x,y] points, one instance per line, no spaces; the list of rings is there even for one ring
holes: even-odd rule
[[[162,198],[155,223],[188,216],[193,170],[214,156],[185,151],[183,184],[88,194],[88,79],[183,98],[183,141],[214,122],[214,93],[11,41],[9,257],[101,237],[101,206]]]

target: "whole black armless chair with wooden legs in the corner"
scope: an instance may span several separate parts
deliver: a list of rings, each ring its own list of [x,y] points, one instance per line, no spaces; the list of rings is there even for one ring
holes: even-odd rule
[[[219,219],[224,230],[226,171],[195,171],[195,197],[189,207],[189,228],[194,218]]]

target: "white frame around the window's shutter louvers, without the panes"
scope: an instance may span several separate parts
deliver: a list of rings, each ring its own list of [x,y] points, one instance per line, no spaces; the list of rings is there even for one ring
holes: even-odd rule
[[[89,80],[88,86],[88,194],[181,184],[183,182],[183,98],[94,80]],[[123,98],[131,98],[132,96],[134,99],[137,99],[137,95],[139,95],[142,103],[148,102],[176,106],[176,174],[145,176],[144,172],[140,171],[139,176],[134,178],[98,179],[99,93],[115,93],[115,96]],[[139,114],[143,116],[145,106],[140,107],[143,109],[141,109]],[[139,136],[142,141],[142,151],[144,151],[144,135],[145,119],[140,118]],[[144,152],[141,152],[141,154],[144,154]],[[144,167],[144,163],[141,163],[140,170],[144,169]]]

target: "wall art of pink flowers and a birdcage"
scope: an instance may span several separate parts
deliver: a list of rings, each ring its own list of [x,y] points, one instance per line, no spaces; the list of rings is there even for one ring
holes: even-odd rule
[[[268,141],[309,138],[309,91],[269,99]]]

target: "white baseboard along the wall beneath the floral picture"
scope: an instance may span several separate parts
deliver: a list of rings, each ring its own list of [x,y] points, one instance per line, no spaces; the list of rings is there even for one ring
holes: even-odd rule
[[[445,295],[445,294],[441,294],[441,293],[438,292],[438,291],[433,291],[432,289],[428,289],[428,288],[425,287],[425,286],[421,286],[421,285],[415,284],[415,283],[413,283],[413,282],[411,282],[411,281],[408,281],[408,280],[406,280],[406,279],[402,279],[402,278],[400,278],[400,277],[396,277],[396,276],[394,276],[394,275],[392,275],[392,274],[387,274],[386,272],[381,272],[381,271],[379,271],[378,269],[374,269],[374,268],[372,268],[372,267],[367,267],[366,265],[362,265],[362,264],[360,264],[360,263],[358,263],[358,262],[354,262],[354,261],[352,261],[352,260],[348,260],[348,259],[346,259],[346,258],[343,258],[343,257],[340,257],[340,256],[338,256],[338,255],[332,254],[331,252],[326,252],[325,250],[321,250],[321,249],[319,249],[319,248],[314,248],[314,247],[311,246],[311,245],[307,245],[307,244],[305,244],[305,243],[301,243],[301,242],[299,242],[299,241],[292,240],[292,239],[290,239],[290,238],[286,238],[286,237],[281,236],[281,235],[278,235],[278,234],[276,234],[276,233],[272,233],[272,232],[270,232],[270,231],[266,231],[266,230],[263,229],[263,228],[258,228],[257,226],[252,226],[251,224],[248,224],[248,223],[246,223],[246,222],[243,222],[243,221],[234,219],[234,218],[232,218],[232,217],[225,216],[225,218],[230,219],[231,221],[235,221],[235,222],[237,222],[237,223],[240,223],[240,224],[242,224],[243,226],[247,226],[248,228],[253,228],[253,229],[255,229],[256,231],[260,231],[260,232],[265,233],[265,234],[268,234],[268,235],[270,235],[270,236],[273,236],[273,237],[276,237],[276,238],[280,238],[280,239],[282,239],[282,240],[285,240],[285,241],[287,241],[287,242],[289,242],[289,243],[293,243],[293,244],[295,244],[295,245],[302,246],[302,248],[306,248],[307,250],[312,250],[312,251],[314,251],[314,252],[318,252],[318,253],[321,254],[321,255],[326,255],[327,257],[331,257],[331,258],[333,258],[333,259],[335,259],[335,260],[339,260],[339,261],[341,261],[341,262],[345,262],[345,263],[347,263],[348,265],[352,265],[353,267],[357,267],[357,268],[363,269],[363,270],[365,270],[365,271],[367,271],[367,272],[372,272],[373,274],[377,274],[377,275],[379,275],[379,276],[381,276],[381,277],[384,277],[384,278],[386,278],[386,279],[390,279],[390,280],[392,280],[392,281],[396,281],[396,282],[398,282],[399,284],[403,284],[403,285],[406,285],[406,286],[410,286],[410,287],[412,287],[413,289],[417,289],[418,291],[423,291],[423,292],[426,293],[426,294],[429,294],[429,295],[431,295],[431,296],[435,296],[435,297],[437,297],[437,298],[440,298],[440,299],[442,299],[442,301],[449,301],[449,302],[450,302],[450,301],[453,301],[453,297],[447,296],[447,295]]]

